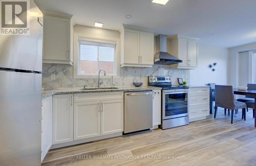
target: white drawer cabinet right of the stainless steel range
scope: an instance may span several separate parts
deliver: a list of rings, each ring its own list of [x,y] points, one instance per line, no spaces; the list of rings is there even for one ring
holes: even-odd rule
[[[210,112],[209,88],[189,90],[189,122],[206,119]]]

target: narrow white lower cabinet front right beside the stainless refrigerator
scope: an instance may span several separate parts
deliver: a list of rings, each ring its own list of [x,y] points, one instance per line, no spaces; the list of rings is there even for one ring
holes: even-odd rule
[[[42,100],[41,161],[52,146],[52,96]]]

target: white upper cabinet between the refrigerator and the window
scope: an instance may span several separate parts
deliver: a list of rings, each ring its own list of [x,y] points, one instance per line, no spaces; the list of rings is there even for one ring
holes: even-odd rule
[[[72,15],[44,12],[43,63],[73,65]]]

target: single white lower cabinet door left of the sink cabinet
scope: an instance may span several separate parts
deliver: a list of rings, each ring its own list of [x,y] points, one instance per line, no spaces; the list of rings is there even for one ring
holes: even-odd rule
[[[53,96],[52,144],[73,141],[73,94]]]

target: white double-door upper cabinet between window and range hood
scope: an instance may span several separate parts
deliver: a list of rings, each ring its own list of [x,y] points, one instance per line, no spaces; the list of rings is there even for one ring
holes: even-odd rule
[[[154,65],[154,33],[124,25],[121,30],[120,65],[152,67]]]

